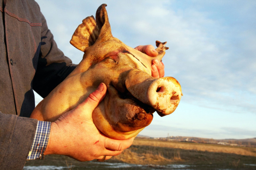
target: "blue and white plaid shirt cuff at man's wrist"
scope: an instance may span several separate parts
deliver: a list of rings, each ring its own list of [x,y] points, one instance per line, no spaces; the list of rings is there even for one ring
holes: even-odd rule
[[[45,149],[49,140],[51,122],[38,121],[37,130],[27,160],[44,159]]]

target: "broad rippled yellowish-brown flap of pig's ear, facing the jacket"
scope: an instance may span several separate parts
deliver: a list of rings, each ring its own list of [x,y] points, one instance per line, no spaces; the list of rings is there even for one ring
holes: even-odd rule
[[[70,43],[77,49],[85,51],[85,49],[93,45],[98,39],[99,28],[93,16],[83,19],[83,23],[80,24],[75,30]]]

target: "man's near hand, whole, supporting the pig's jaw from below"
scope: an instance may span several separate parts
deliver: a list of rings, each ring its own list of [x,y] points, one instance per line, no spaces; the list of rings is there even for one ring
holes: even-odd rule
[[[67,155],[79,161],[110,159],[128,148],[133,139],[115,140],[106,137],[94,125],[92,112],[106,94],[106,85],[101,83],[97,90],[75,109],[64,113],[51,124],[47,154]]]

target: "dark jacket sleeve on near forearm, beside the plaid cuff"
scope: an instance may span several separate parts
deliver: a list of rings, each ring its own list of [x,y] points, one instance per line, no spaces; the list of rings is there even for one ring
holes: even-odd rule
[[[0,112],[0,122],[0,169],[23,169],[38,120]]]

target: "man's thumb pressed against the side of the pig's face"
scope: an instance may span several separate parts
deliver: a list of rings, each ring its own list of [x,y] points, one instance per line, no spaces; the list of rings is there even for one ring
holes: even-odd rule
[[[104,83],[99,84],[98,88],[91,93],[85,101],[79,105],[79,109],[86,110],[87,113],[91,113],[97,107],[97,105],[103,100],[106,95],[107,87]]]

